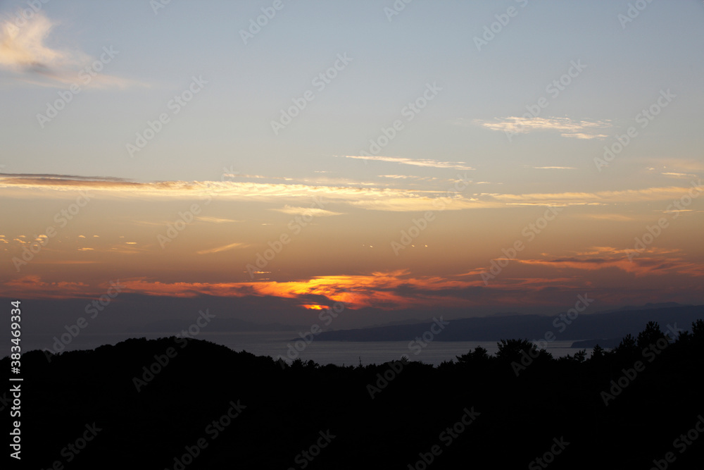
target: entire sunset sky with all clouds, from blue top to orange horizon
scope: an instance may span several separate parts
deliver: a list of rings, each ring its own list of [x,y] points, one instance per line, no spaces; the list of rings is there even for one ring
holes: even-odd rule
[[[342,305],[334,328],[701,304],[703,21],[694,0],[0,1],[2,295],[110,293],[128,323]]]

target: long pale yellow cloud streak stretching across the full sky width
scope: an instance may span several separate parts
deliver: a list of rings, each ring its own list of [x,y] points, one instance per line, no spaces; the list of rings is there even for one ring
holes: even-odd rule
[[[470,190],[447,192],[446,190],[413,190],[402,188],[353,187],[343,185],[301,185],[284,183],[248,183],[232,181],[159,181],[136,183],[122,180],[73,180],[68,178],[31,178],[23,175],[13,178],[0,175],[0,190],[5,197],[75,199],[78,191],[86,191],[91,197],[103,199],[197,199],[220,198],[222,200],[268,202],[282,204],[286,214],[310,214],[310,202],[314,197],[325,202],[347,204],[363,209],[379,211],[426,211],[438,209],[455,211],[508,206],[572,206],[628,204],[634,202],[667,201],[681,198],[692,185],[646,187],[637,190],[599,192],[556,192],[507,194],[483,192],[472,194]],[[698,184],[701,184],[699,181]],[[442,204],[439,204],[439,200]],[[284,205],[285,204],[285,205]],[[320,215],[338,215],[337,212],[322,211]],[[211,219],[210,222],[225,223],[230,219]],[[156,222],[156,221],[155,221]]]

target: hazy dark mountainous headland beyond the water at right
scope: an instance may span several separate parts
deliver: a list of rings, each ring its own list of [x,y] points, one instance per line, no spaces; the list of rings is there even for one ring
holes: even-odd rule
[[[505,338],[541,340],[552,333],[554,340],[588,340],[590,338],[623,338],[636,335],[643,324],[656,321],[663,331],[667,325],[687,330],[691,323],[704,318],[704,305],[677,307],[625,307],[617,311],[580,314],[576,319],[560,316],[512,315],[454,319],[434,335],[435,341],[498,341]],[[322,341],[410,341],[420,337],[430,323],[391,325],[355,330],[320,333]]]

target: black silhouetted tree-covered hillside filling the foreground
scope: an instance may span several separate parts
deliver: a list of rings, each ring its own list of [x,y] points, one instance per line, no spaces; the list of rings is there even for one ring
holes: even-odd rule
[[[422,359],[422,354],[418,356]],[[0,361],[10,369],[9,358]],[[704,321],[555,359],[527,340],[433,367],[286,365],[201,340],[22,358],[27,469],[691,469]],[[8,397],[10,397],[8,399]],[[11,407],[6,386],[0,406]]]

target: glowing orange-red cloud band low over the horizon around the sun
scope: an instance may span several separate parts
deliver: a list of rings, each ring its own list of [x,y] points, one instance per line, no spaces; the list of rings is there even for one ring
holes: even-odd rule
[[[551,302],[545,292],[570,292],[598,283],[597,271],[610,269],[635,276],[704,276],[704,266],[677,257],[677,253],[653,248],[629,261],[625,250],[593,247],[571,257],[515,259],[510,268],[486,285],[482,273],[471,269],[449,276],[417,276],[408,270],[360,275],[316,276],[303,280],[253,282],[172,282],[146,278],[122,279],[122,292],[155,297],[279,297],[293,299],[306,309],[324,309],[341,302],[349,309],[473,307],[480,302],[520,306],[529,302]],[[595,274],[591,274],[595,273]],[[612,274],[610,275],[612,276]],[[5,290],[34,298],[84,298],[105,292],[104,285],[81,282],[44,282],[25,276],[4,283]],[[684,285],[680,288],[690,289]],[[672,291],[672,285],[662,285]],[[677,289],[674,289],[677,290]],[[553,294],[550,295],[553,297]]]

